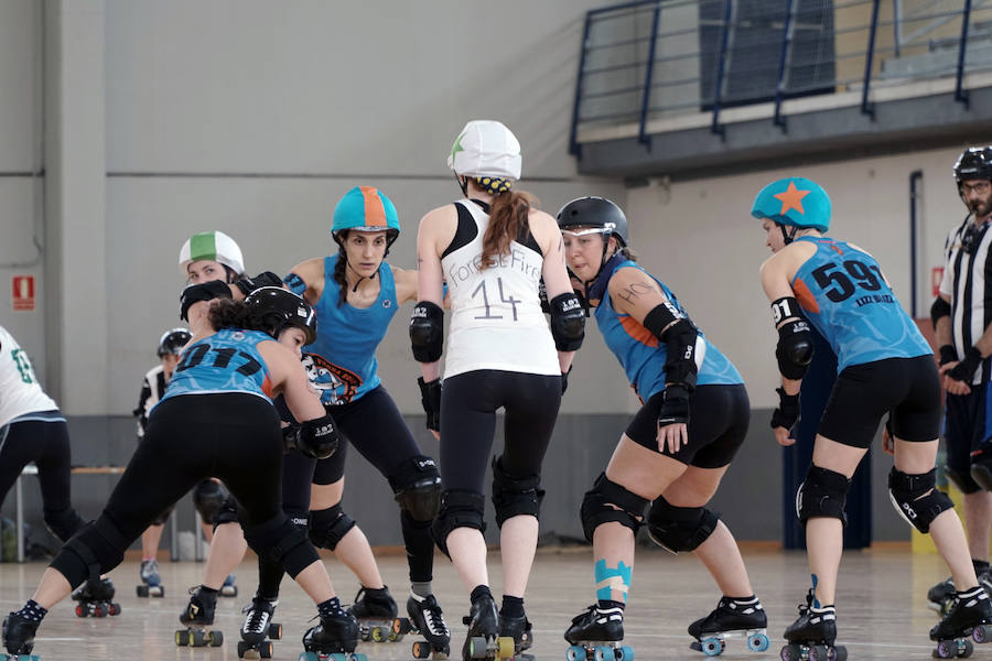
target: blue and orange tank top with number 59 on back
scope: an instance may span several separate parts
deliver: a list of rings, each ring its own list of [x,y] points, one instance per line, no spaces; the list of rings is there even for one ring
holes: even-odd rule
[[[827,237],[800,237],[817,251],[796,271],[792,291],[837,354],[837,370],[886,358],[932,354],[866,252]]]

